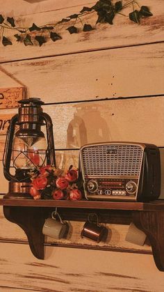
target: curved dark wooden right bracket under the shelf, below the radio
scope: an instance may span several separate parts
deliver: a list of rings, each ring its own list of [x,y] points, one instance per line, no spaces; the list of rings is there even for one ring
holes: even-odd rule
[[[149,238],[156,266],[164,271],[164,211],[134,211],[133,223]]]

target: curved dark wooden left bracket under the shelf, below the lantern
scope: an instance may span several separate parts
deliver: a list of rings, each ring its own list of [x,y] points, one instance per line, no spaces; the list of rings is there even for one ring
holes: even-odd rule
[[[3,206],[6,219],[19,225],[28,238],[31,252],[37,259],[44,259],[44,235],[42,226],[48,217],[47,208],[28,208],[21,206]]]

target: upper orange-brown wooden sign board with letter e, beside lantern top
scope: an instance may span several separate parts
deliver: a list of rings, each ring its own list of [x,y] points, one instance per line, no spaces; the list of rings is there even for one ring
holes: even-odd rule
[[[18,101],[26,97],[24,87],[0,88],[0,109],[18,107]]]

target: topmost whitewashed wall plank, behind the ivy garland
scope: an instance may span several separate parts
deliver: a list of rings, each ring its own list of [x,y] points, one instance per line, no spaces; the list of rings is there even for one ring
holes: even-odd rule
[[[81,0],[76,1],[76,3],[75,1],[72,3],[72,1],[69,0],[64,1],[63,7],[60,5],[60,8],[56,9],[56,2],[58,1],[51,1],[51,4],[49,3],[49,8],[44,6],[44,13],[35,13],[34,6],[34,10],[31,11],[31,13],[35,14],[27,15],[26,17],[18,17],[16,20],[16,25],[19,27],[30,27],[33,22],[35,22],[38,26],[43,26],[47,23],[54,24],[54,22],[58,22],[69,15],[79,13],[83,6],[91,7],[96,3],[96,1],[86,3],[87,1]],[[129,1],[124,1],[124,3],[126,2]],[[138,2],[142,5],[141,0]],[[15,6],[17,7],[16,11],[25,10],[25,4],[27,3],[22,3],[20,5],[21,8],[19,8],[19,6]],[[30,4],[27,5],[29,6]],[[60,34],[62,39],[54,43],[51,39],[49,39],[49,32],[47,32],[48,42],[44,43],[42,47],[38,47],[37,42],[34,40],[34,32],[31,33],[34,45],[26,47],[23,43],[17,43],[17,40],[14,37],[14,34],[17,33],[17,31],[14,29],[12,29],[12,31],[6,29],[3,35],[10,38],[13,45],[9,45],[8,47],[3,47],[3,45],[0,45],[0,61],[5,62],[12,61],[13,59],[31,59],[38,56],[41,57],[69,54],[73,52],[86,52],[88,50],[163,41],[163,0],[157,0],[156,4],[154,4],[153,0],[145,0],[144,5],[149,6],[153,16],[141,20],[140,25],[129,20],[128,15],[129,12],[132,11],[132,6],[126,8],[124,11],[126,17],[123,15],[115,16],[113,26],[110,24],[95,25],[97,22],[97,13],[95,12],[90,15],[85,15],[82,20],[83,24],[91,24],[94,30],[83,32],[83,25],[80,20],[77,20],[76,26],[79,29],[79,33],[74,33],[71,35],[67,31],[67,27],[74,25],[74,19],[71,22],[63,22],[62,25],[59,24],[55,29],[55,31]],[[10,11],[12,11],[12,9]],[[17,14],[17,12],[15,12],[14,8],[13,13],[10,13],[10,17],[15,14]]]

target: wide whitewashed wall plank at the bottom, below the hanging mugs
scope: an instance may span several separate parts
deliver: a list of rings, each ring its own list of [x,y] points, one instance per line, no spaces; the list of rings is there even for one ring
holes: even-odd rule
[[[151,255],[47,247],[40,261],[27,245],[0,245],[1,286],[49,292],[164,289],[163,272]]]

